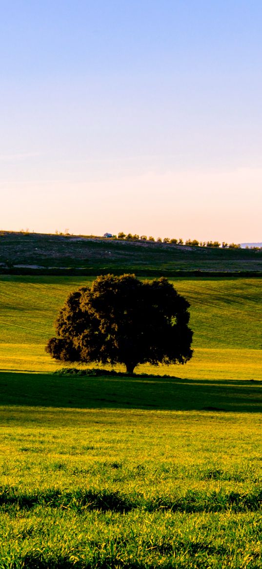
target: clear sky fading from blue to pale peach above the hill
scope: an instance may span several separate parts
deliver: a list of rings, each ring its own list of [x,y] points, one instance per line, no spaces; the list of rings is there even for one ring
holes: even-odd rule
[[[0,229],[262,241],[261,0],[0,0]]]

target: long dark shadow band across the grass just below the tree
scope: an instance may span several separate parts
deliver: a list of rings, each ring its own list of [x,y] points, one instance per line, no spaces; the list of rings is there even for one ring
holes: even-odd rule
[[[257,413],[262,382],[0,372],[0,405]]]

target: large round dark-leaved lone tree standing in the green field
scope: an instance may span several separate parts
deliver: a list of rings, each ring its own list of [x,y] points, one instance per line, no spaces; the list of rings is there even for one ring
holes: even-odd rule
[[[64,362],[185,364],[192,357],[189,303],[166,278],[97,277],[72,292],[46,351]]]

